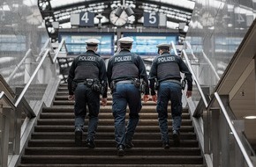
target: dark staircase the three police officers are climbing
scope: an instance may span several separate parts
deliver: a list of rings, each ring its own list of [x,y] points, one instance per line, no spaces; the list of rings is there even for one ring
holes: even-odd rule
[[[187,109],[183,113],[181,146],[173,147],[170,137],[170,148],[163,149],[155,103],[143,103],[132,141],[134,148],[126,149],[125,156],[117,156],[111,95],[108,105],[101,106],[94,149],[75,146],[74,102],[67,96],[67,84],[60,84],[52,107],[43,108],[18,167],[206,167]],[[86,134],[84,142],[85,138]]]

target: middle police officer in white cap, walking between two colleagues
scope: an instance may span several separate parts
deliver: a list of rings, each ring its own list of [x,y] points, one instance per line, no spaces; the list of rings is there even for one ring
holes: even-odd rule
[[[118,40],[120,52],[109,59],[107,76],[112,91],[112,112],[115,119],[115,139],[117,155],[124,156],[124,149],[133,147],[132,137],[139,122],[141,93],[139,80],[146,86],[143,100],[147,102],[149,88],[146,68],[138,54],[131,53],[132,38],[124,37]],[[142,82],[141,82],[142,83]],[[125,128],[125,113],[127,104],[130,109],[127,128]]]

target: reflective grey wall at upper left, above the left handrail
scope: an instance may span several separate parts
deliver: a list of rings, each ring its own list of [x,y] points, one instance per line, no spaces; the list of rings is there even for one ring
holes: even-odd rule
[[[29,48],[39,54],[48,38],[36,0],[0,0],[0,74],[5,80]],[[23,82],[25,71],[22,65],[11,84]]]

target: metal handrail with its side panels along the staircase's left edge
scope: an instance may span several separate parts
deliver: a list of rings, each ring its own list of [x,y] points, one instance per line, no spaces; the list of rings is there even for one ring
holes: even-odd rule
[[[60,82],[59,74],[56,72],[56,57],[62,47],[64,40],[56,50],[51,46],[50,40],[47,40],[37,57],[29,49],[8,77],[8,84],[4,84],[15,88],[17,97],[11,99],[7,96],[8,92],[0,92],[1,167],[15,165],[32,132],[35,120],[41,113],[42,106],[51,105]],[[20,69],[24,69],[24,73]],[[20,76],[17,73],[24,76],[22,84],[12,84],[15,77]]]

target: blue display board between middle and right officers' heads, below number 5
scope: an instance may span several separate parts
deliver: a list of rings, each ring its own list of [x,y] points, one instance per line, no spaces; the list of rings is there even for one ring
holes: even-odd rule
[[[140,55],[156,55],[157,45],[173,41],[177,44],[177,33],[124,33],[125,37],[131,37],[133,41],[132,52]]]

